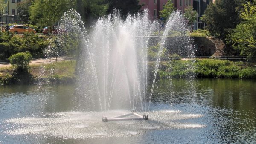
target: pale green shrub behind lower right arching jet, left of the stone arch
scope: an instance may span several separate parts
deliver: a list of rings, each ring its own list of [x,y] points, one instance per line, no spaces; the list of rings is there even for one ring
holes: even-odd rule
[[[148,60],[149,61],[154,61],[157,60],[157,54],[159,52],[160,44],[158,43],[156,46],[151,46],[148,48]],[[167,54],[167,49],[163,48],[163,53],[161,55],[161,60],[166,60],[168,59],[169,56]]]

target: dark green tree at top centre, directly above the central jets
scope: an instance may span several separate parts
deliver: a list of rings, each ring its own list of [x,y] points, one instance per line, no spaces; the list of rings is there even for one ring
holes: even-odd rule
[[[113,12],[114,9],[120,10],[122,16],[126,16],[128,13],[133,15],[137,13],[140,8],[139,0],[107,0],[108,1],[108,13]]]

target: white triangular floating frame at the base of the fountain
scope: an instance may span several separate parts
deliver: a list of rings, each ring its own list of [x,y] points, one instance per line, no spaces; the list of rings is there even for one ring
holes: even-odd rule
[[[124,118],[126,116],[130,116],[130,115],[134,115],[136,117],[134,118]],[[126,120],[148,120],[148,115],[139,115],[136,113],[135,110],[132,110],[131,113],[127,113],[124,115],[118,115],[118,116],[114,116],[111,118],[108,118],[106,116],[102,117],[102,121],[103,122],[107,122],[107,121],[126,121]]]

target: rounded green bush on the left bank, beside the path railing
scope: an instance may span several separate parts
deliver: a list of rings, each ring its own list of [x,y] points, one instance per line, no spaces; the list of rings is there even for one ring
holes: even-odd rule
[[[15,69],[26,70],[32,60],[32,55],[29,52],[19,52],[8,58]]]

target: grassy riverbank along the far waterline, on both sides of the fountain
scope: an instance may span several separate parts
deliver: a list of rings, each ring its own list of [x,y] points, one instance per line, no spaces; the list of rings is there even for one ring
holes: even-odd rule
[[[148,62],[149,76],[156,62]],[[0,84],[73,83],[76,61],[33,65],[28,74],[12,76],[12,68],[0,69]],[[256,64],[228,60],[170,60],[160,62],[157,78],[248,78],[256,79]]]

